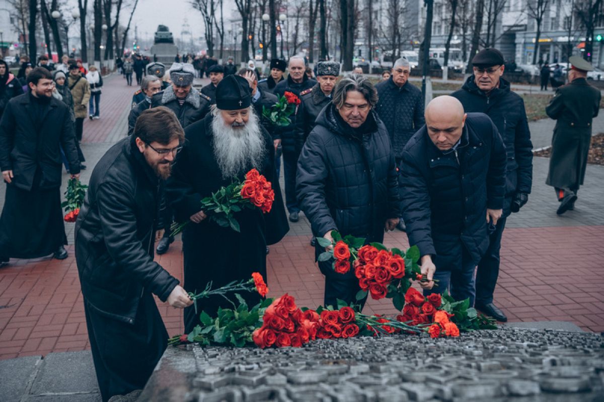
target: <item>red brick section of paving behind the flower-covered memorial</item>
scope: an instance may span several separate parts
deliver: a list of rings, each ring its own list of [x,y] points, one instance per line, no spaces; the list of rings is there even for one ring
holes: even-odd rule
[[[604,226],[507,229],[496,301],[510,321],[571,321],[604,331]],[[390,247],[406,247],[402,232]],[[72,252],[72,247],[69,247]],[[288,236],[271,247],[271,296],[290,293],[298,305],[323,301],[323,276],[307,236]],[[157,259],[182,278],[181,243]],[[181,311],[158,302],[169,333],[182,333]],[[369,300],[365,312],[393,314],[390,302]],[[74,257],[65,261],[11,260],[0,269],[0,359],[89,348]]]

